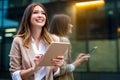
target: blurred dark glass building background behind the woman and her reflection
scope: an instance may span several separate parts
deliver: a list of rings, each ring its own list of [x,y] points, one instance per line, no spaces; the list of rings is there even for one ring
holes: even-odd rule
[[[120,0],[0,0],[0,80],[12,80],[9,51],[26,6],[42,3],[52,15],[72,18],[72,60],[78,53],[90,53],[88,63],[74,71],[75,80],[120,79]]]

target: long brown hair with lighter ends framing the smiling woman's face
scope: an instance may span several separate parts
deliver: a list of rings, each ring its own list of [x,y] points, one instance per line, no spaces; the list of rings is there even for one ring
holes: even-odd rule
[[[31,39],[30,18],[31,18],[31,15],[32,15],[32,12],[33,12],[33,9],[35,6],[42,7],[43,10],[45,11],[45,15],[47,18],[46,10],[42,4],[32,3],[32,4],[28,5],[28,7],[25,9],[25,12],[23,14],[22,21],[19,26],[17,35],[15,35],[15,36],[19,36],[19,37],[23,38],[24,46],[26,46],[30,42],[30,39]],[[41,37],[45,41],[46,44],[50,44],[52,41],[52,38],[50,37],[50,34],[48,33],[48,19],[46,19],[46,23],[42,27]]]

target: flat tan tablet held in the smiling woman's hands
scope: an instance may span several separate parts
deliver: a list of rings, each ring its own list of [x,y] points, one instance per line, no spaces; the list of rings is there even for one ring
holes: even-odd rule
[[[54,42],[48,47],[42,60],[40,60],[40,66],[53,66],[51,60],[57,56],[64,56],[64,53],[70,47],[70,43]]]

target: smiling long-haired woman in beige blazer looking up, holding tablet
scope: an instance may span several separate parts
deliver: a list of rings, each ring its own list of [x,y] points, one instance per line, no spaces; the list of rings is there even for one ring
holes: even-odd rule
[[[40,66],[47,47],[57,37],[48,33],[48,19],[42,4],[32,3],[24,12],[22,21],[10,50],[10,69],[13,80],[53,80],[64,57],[57,56],[51,62],[55,66]]]

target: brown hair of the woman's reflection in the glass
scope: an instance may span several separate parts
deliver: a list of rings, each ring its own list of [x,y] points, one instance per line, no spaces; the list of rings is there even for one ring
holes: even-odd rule
[[[68,34],[71,18],[65,14],[56,14],[52,17],[49,31],[51,34],[66,36]]]

